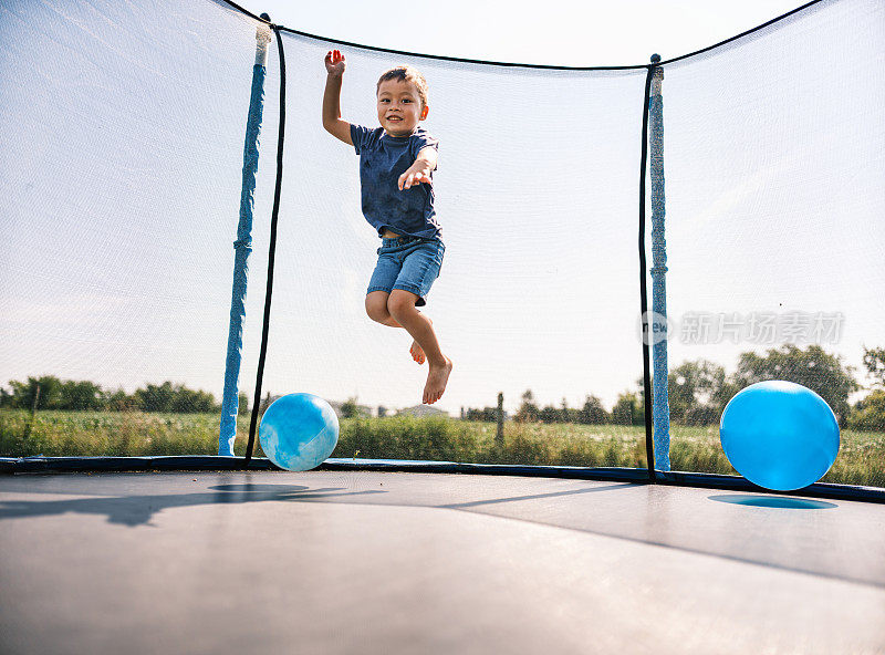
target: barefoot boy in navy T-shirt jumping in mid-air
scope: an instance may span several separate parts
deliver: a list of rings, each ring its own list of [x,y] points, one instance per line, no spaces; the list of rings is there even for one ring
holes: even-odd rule
[[[404,328],[415,340],[412,357],[429,365],[423,403],[436,403],[446,391],[451,360],[439,349],[433,322],[417,308],[439,275],[446,247],[434,211],[433,174],[438,141],[418,123],[427,117],[427,82],[410,66],[398,66],[378,80],[381,127],[369,129],[341,119],[344,55],[325,55],[329,75],[323,94],[323,127],[360,155],[363,215],[378,231],[378,262],[366,291],[373,321]]]

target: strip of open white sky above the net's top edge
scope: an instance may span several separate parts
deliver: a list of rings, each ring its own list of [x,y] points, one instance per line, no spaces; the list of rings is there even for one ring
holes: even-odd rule
[[[446,0],[397,7],[376,0],[241,2],[256,14],[267,12],[278,24],[319,37],[421,54],[576,66],[645,64],[653,53],[671,59],[729,39],[802,3]]]

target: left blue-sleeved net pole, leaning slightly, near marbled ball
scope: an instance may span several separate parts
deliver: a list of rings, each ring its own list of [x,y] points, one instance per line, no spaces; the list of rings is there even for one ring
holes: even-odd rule
[[[264,18],[262,15],[262,18]],[[261,118],[264,110],[264,74],[268,64],[270,30],[259,25],[256,31],[256,63],[252,66],[252,95],[246,123],[246,144],[242,155],[242,190],[240,220],[233,242],[233,290],[230,299],[230,328],[225,361],[225,392],[221,398],[221,426],[218,433],[218,454],[233,456],[239,412],[240,363],[242,360],[242,324],[246,318],[246,288],[249,278],[249,253],[252,252],[252,210],[254,209],[256,174]]]

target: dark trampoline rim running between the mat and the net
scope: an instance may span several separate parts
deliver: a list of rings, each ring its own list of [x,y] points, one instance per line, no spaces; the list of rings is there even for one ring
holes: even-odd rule
[[[138,472],[190,470],[242,470],[242,457],[0,457],[0,475],[46,472]],[[327,459],[319,470],[366,470],[379,472],[468,474],[485,476],[525,476],[566,478],[647,485],[644,468],[586,468],[577,466],[528,466],[512,464],[461,464],[456,461],[413,461],[406,459]],[[267,458],[252,458],[248,470],[280,470]],[[794,491],[772,491],[746,478],[720,474],[656,471],[655,482],[674,487],[697,487],[726,491],[747,491],[777,496],[827,498],[885,503],[885,489],[815,482]]]

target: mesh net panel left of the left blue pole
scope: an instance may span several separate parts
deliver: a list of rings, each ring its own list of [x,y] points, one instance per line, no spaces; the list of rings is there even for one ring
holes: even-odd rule
[[[187,453],[190,428],[154,413],[220,402],[257,22],[208,2],[13,2],[0,12],[4,402],[147,410],[96,419],[100,441],[131,435],[147,451]],[[261,216],[273,194],[273,50],[268,67]],[[251,316],[262,274],[250,281]],[[58,455],[60,430],[64,454],[105,447],[83,415],[54,418],[64,426],[40,439],[38,420],[3,455]],[[211,443],[217,422],[204,417],[201,438]]]

